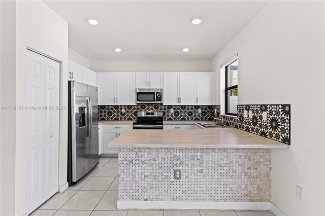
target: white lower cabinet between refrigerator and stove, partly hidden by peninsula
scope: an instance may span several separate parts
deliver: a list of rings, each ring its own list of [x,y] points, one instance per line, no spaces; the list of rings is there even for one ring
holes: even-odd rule
[[[118,148],[116,147],[107,147],[107,143],[122,135],[128,130],[133,129],[133,125],[131,124],[103,124],[102,132],[100,139],[102,140],[102,154],[118,154]]]

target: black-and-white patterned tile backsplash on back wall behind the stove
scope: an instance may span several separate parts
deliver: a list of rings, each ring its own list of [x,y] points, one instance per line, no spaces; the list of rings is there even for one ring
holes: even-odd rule
[[[125,110],[122,113],[122,109]],[[171,113],[170,110],[174,112]],[[201,109],[201,113],[199,113]],[[140,103],[138,105],[100,105],[100,121],[136,121],[138,111],[163,111],[164,120],[190,121],[190,120],[213,120],[215,116],[215,105],[163,105],[160,103]],[[217,112],[220,109],[217,109]]]

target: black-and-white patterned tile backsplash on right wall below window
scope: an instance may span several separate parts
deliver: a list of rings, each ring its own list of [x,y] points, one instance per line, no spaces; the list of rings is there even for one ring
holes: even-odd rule
[[[244,117],[244,110],[252,111],[251,119]],[[266,121],[262,112],[267,112]],[[290,145],[290,104],[237,105],[237,117],[223,118],[226,125]]]

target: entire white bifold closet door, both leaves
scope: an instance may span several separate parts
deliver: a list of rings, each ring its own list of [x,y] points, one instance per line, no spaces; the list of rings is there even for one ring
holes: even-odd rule
[[[59,63],[27,51],[26,213],[58,191]],[[54,109],[53,109],[54,106]]]

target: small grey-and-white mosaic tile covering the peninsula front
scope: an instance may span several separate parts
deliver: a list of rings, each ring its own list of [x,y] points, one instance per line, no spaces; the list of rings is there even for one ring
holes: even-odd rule
[[[118,160],[119,200],[271,201],[270,149],[122,148]]]

